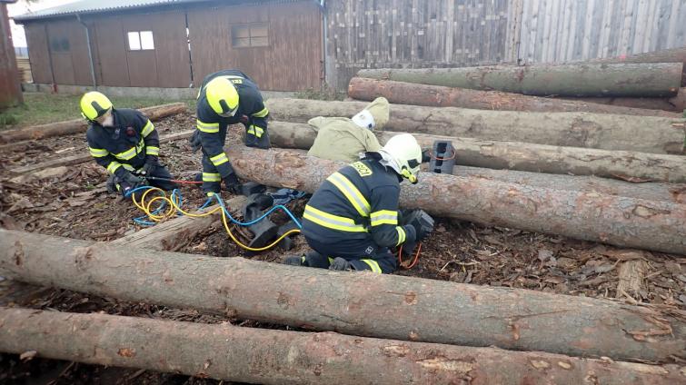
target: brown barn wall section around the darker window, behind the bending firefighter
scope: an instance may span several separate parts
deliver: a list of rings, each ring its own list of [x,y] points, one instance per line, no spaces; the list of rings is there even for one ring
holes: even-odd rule
[[[269,45],[233,48],[235,24],[269,24]],[[262,5],[218,5],[188,10],[194,83],[236,68],[263,90],[299,91],[322,84],[322,25],[313,1]]]

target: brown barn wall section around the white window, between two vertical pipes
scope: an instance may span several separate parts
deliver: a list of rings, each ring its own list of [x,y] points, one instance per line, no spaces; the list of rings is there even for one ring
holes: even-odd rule
[[[98,84],[188,87],[191,71],[183,11],[90,19]],[[153,31],[154,50],[129,50],[127,33]]]

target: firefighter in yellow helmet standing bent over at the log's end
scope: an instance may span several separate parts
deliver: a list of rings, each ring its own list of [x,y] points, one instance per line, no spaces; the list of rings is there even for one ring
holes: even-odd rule
[[[244,123],[245,145],[267,149],[268,115],[262,94],[248,75],[224,70],[204,78],[198,94],[197,130],[191,140],[203,149],[204,192],[220,192],[222,181],[232,192],[238,190],[238,177],[224,153],[226,128],[229,124]]]

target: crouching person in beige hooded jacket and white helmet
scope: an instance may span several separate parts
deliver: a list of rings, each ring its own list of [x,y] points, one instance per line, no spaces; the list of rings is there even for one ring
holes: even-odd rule
[[[307,153],[317,158],[353,163],[360,153],[378,152],[381,149],[373,129],[383,129],[388,123],[388,100],[378,97],[353,118],[317,116],[309,123],[317,130],[317,137]]]

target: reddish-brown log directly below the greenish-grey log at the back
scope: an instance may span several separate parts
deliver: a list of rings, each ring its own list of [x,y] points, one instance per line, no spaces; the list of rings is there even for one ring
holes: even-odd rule
[[[680,117],[681,114],[658,110],[628,108],[606,104],[585,103],[497,91],[478,91],[441,85],[412,84],[353,77],[348,95],[372,101],[379,96],[394,104],[427,105],[431,107],[462,107],[478,110],[532,111],[540,113],[596,113],[640,116]]]

